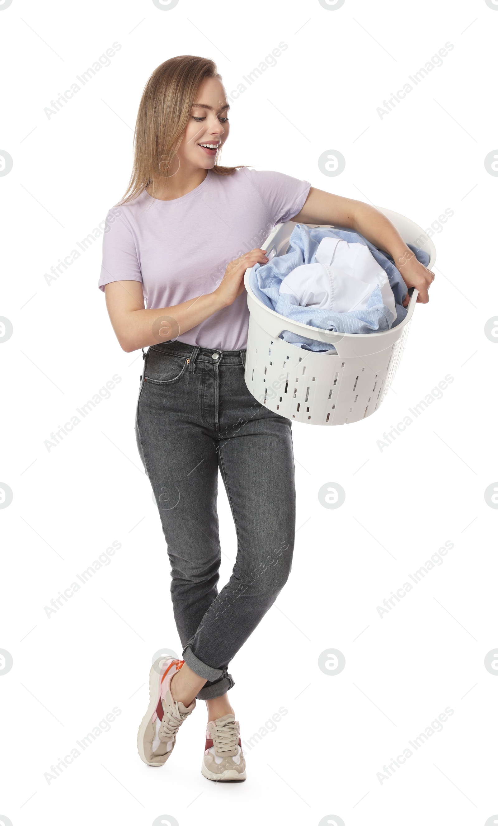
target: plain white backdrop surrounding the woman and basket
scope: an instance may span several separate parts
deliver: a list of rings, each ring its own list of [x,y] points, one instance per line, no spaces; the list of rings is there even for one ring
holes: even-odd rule
[[[498,679],[484,666],[498,643],[498,514],[484,499],[498,479],[498,348],[484,334],[498,310],[498,178],[484,166],[498,145],[498,7],[12,0],[0,25],[0,148],[13,159],[0,179],[0,314],[13,325],[1,348],[0,481],[13,501],[0,513],[0,648],[13,666],[0,679],[0,822],[498,822]],[[47,118],[50,100],[115,41],[111,65]],[[280,707],[287,714],[246,749],[248,780],[216,786],[200,771],[202,703],[165,767],[146,767],[136,751],[151,657],[162,646],[180,653],[164,537],[135,445],[141,352],[123,353],[111,330],[97,289],[100,240],[50,286],[44,273],[125,191],[140,94],[158,64],[211,57],[230,92],[281,41],[277,65],[232,104],[223,162],[306,178],[423,228],[447,208],[454,215],[434,233],[430,301],[415,308],[379,411],[349,426],[292,427],[292,575],[230,667],[244,740]],[[448,41],[443,65],[381,119],[382,101]],[[325,150],[344,154],[337,178],[318,169]],[[111,397],[49,452],[50,432],[114,374]],[[443,398],[381,452],[377,439],[447,374]],[[318,501],[327,482],[346,491],[338,510]],[[222,485],[219,509],[222,584],[236,550]],[[44,606],[113,540],[122,547],[111,564],[49,619]],[[443,564],[381,619],[377,605],[447,540]],[[340,674],[318,667],[327,647],[344,653]],[[48,783],[50,766],[115,706],[111,730]],[[448,706],[443,731],[381,783],[377,772]]]

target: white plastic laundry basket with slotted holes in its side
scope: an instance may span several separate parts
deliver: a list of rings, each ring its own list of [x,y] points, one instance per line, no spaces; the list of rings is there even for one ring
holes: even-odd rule
[[[407,243],[424,249],[434,265],[436,250],[420,226],[409,218],[377,207]],[[279,225],[266,241],[268,258],[287,252],[294,221]],[[308,225],[310,226],[310,225]],[[316,226],[316,225],[314,225]],[[421,238],[425,238],[423,244]],[[382,404],[400,363],[418,292],[410,297],[406,318],[382,333],[353,334],[319,330],[268,309],[254,295],[248,269],[244,275],[249,306],[245,383],[269,410],[307,425],[349,425],[372,415]],[[337,353],[315,353],[278,335],[290,330],[315,341],[334,344]]]

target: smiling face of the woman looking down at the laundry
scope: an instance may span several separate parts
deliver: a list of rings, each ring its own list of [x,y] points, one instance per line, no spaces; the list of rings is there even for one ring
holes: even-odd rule
[[[184,168],[212,169],[216,154],[228,138],[229,105],[218,78],[204,78],[178,149]]]

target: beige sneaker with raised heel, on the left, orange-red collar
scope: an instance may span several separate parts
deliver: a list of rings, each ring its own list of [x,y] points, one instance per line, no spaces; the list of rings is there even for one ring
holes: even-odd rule
[[[183,662],[173,657],[159,657],[150,669],[149,708],[137,738],[140,757],[148,766],[164,765],[173,752],[178,729],[196,707],[195,700],[188,706],[173,700],[169,691],[171,678]]]

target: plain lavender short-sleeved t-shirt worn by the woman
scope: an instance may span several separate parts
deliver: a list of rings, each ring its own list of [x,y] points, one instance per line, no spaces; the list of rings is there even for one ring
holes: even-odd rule
[[[264,249],[273,226],[301,210],[310,186],[279,172],[244,168],[226,176],[209,171],[200,186],[173,201],[142,192],[107,214],[98,286],[103,291],[111,281],[140,281],[148,310],[213,292],[230,261]],[[244,349],[248,325],[244,291],[177,340]]]

